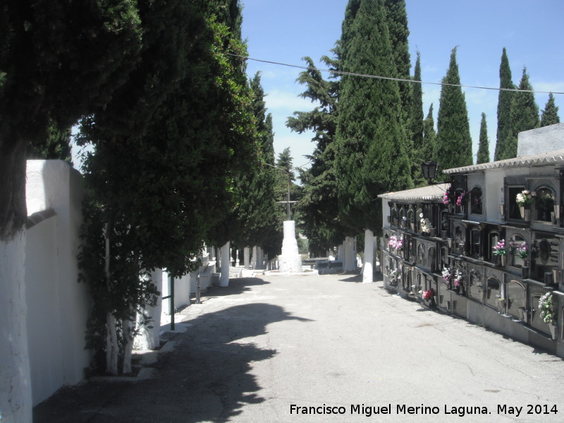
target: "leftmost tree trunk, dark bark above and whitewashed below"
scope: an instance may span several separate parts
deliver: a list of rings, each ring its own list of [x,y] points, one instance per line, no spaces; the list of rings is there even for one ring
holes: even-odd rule
[[[25,303],[25,140],[0,133],[0,419],[32,421]],[[6,135],[8,134],[8,135]]]

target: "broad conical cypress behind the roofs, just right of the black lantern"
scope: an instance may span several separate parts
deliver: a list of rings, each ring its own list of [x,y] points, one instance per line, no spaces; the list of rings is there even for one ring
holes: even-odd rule
[[[460,85],[456,47],[450,54],[450,65],[443,78],[437,116],[436,159],[441,169],[468,166],[472,160],[472,138],[465,95]]]

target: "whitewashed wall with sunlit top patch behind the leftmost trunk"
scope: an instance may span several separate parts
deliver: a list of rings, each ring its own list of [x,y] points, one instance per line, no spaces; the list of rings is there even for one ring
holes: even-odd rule
[[[78,384],[90,364],[84,349],[90,296],[78,283],[76,260],[82,178],[64,161],[27,161],[27,213],[56,216],[27,231],[25,283],[33,405],[66,384]]]

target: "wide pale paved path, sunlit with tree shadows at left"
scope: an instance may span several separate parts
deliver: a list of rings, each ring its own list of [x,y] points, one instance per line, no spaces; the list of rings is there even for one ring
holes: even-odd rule
[[[381,282],[241,278],[203,300],[183,311],[186,330],[154,379],[63,389],[34,421],[564,421],[563,360],[390,295]],[[556,415],[527,414],[555,405]],[[343,414],[302,414],[309,407]]]

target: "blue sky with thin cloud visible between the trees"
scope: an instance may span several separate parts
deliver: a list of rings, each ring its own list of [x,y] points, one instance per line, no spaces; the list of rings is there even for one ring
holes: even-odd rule
[[[255,59],[303,65],[310,56],[319,59],[341,37],[341,23],[348,0],[241,0],[243,38]],[[441,82],[450,51],[458,46],[457,61],[462,85],[499,87],[502,49],[508,52],[513,83],[517,85],[527,67],[534,90],[564,92],[564,1],[562,0],[407,0],[412,70],[416,51],[421,54],[422,80]],[[262,72],[266,107],[274,122],[276,157],[290,147],[293,164],[307,163],[311,134],[299,135],[286,128],[294,111],[314,105],[298,97],[305,87],[295,82],[300,69],[247,62],[248,75]],[[477,153],[482,112],[488,124],[490,153],[496,143],[498,91],[464,88],[473,152]],[[427,116],[434,104],[439,110],[439,85],[423,85],[423,109]],[[536,94],[539,110],[548,94]],[[555,95],[560,119],[564,119],[564,95]]]

